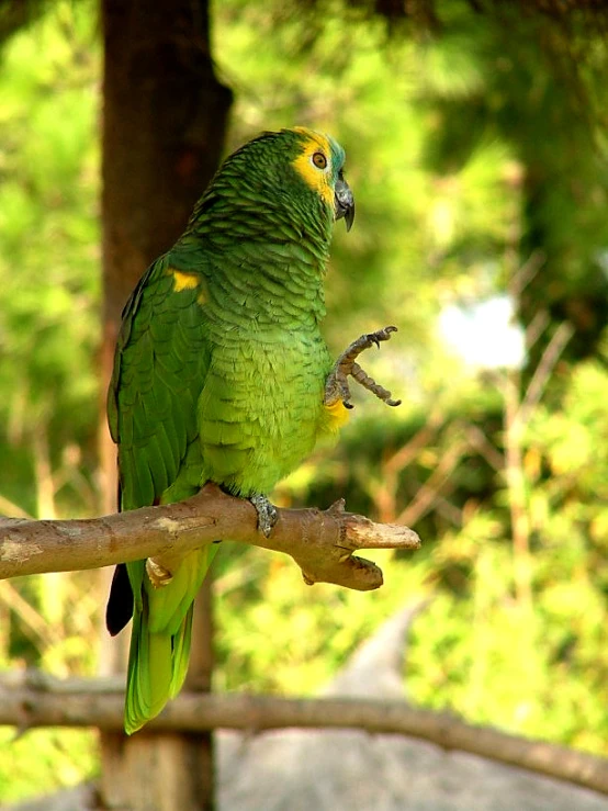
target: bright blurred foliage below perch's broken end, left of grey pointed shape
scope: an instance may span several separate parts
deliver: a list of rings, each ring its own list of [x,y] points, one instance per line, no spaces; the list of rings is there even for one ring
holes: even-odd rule
[[[420,599],[424,566],[368,554],[390,587],[382,595],[304,587],[289,559],[260,550],[225,552],[215,583],[219,667],[216,689],[312,695],[322,689],[357,644],[408,600]],[[237,568],[238,567],[238,568]]]

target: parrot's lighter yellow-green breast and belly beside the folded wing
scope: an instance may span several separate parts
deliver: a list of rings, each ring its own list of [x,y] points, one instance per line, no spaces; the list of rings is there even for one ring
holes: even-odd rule
[[[317,439],[329,367],[318,333],[224,336],[199,401],[202,481],[247,496],[294,470]]]

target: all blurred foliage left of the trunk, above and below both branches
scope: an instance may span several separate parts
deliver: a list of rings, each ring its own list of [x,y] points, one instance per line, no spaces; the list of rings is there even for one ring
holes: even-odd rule
[[[49,4],[0,59],[0,511],[92,512],[100,340],[100,49],[92,4]],[[0,671],[91,674],[95,577],[0,584]],[[0,800],[78,782],[92,731],[0,730]]]

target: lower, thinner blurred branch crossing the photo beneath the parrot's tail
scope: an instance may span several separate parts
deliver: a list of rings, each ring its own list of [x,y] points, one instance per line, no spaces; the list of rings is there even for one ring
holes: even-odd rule
[[[10,674],[0,680],[0,724],[23,731],[33,726],[97,726],[120,731],[123,700],[115,679],[60,682],[40,674],[34,678],[29,674]],[[182,692],[146,730],[232,729],[250,733],[288,728],[410,735],[446,750],[470,752],[608,795],[606,758],[466,724],[448,713],[417,709],[398,700]]]

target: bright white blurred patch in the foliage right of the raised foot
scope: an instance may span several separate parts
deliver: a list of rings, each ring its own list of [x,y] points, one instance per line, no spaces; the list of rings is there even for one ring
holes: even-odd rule
[[[472,367],[517,369],[526,357],[523,330],[506,295],[469,306],[448,304],[439,316],[439,333]]]

